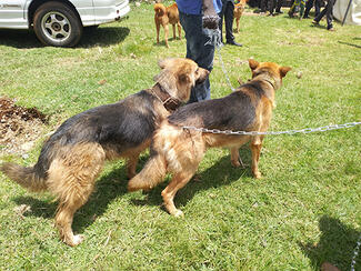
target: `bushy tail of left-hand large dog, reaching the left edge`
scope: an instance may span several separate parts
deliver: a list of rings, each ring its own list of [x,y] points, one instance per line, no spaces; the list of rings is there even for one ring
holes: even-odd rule
[[[24,168],[16,163],[3,163],[0,170],[29,191],[40,192],[47,189],[46,180],[37,174],[33,167]]]

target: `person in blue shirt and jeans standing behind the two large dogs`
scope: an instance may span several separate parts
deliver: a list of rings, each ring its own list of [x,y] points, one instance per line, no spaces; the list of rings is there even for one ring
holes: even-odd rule
[[[219,26],[218,13],[221,11],[221,0],[176,0],[179,10],[179,20],[185,32],[187,56],[199,67],[212,71],[214,43],[212,32]],[[209,78],[195,84],[191,90],[189,103],[211,99]]]

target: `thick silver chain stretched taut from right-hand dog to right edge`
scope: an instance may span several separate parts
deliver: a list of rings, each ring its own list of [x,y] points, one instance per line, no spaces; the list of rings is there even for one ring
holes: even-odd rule
[[[301,130],[289,130],[289,131],[231,131],[231,130],[219,130],[219,129],[207,129],[207,128],[197,128],[197,127],[182,127],[183,130],[192,130],[198,132],[215,133],[215,134],[230,134],[230,136],[279,136],[279,134],[295,134],[295,133],[311,133],[311,132],[325,132],[338,129],[345,129],[355,126],[360,126],[361,122],[348,122],[344,124],[331,124],[319,128],[305,128]]]

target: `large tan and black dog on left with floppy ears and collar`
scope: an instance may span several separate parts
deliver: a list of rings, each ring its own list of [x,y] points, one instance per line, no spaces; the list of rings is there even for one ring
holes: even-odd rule
[[[117,103],[81,112],[63,122],[44,142],[30,168],[3,163],[0,170],[30,191],[48,190],[59,200],[56,225],[69,245],[82,241],[71,229],[74,212],[93,191],[106,160],[127,158],[128,177],[136,174],[139,154],[149,147],[159,124],[209,71],[190,59],[166,59],[151,89]]]

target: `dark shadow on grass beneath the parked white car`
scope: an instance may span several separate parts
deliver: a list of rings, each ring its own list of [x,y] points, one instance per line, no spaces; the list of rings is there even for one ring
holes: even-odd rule
[[[106,47],[123,41],[129,34],[129,28],[100,27],[97,29],[84,28],[82,38],[76,48]],[[44,47],[32,30],[0,30],[0,46],[18,49]]]

